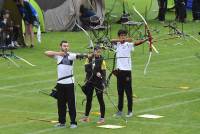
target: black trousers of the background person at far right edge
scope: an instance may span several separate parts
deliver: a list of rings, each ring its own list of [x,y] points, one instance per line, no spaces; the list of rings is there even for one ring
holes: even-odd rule
[[[193,0],[192,15],[193,15],[193,20],[200,20],[200,0]]]

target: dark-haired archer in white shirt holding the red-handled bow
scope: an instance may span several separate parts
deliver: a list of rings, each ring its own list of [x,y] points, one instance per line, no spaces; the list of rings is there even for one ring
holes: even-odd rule
[[[132,63],[131,63],[131,52],[134,50],[134,46],[138,46],[145,40],[138,40],[132,43],[132,39],[127,38],[126,30],[118,31],[118,39],[113,39],[116,48],[116,59],[117,59],[117,90],[118,90],[118,112],[114,116],[121,116],[123,110],[124,92],[126,93],[128,100],[128,113],[126,117],[133,116],[133,91],[132,91]]]

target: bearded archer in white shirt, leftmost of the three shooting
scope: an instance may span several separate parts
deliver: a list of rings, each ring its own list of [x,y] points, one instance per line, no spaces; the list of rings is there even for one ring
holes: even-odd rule
[[[58,121],[56,127],[65,127],[66,122],[66,103],[70,115],[70,128],[76,128],[76,104],[74,93],[74,76],[73,76],[73,61],[75,59],[82,59],[87,55],[75,54],[69,52],[69,43],[62,41],[60,43],[60,51],[46,51],[45,55],[57,60],[57,107],[58,107]]]

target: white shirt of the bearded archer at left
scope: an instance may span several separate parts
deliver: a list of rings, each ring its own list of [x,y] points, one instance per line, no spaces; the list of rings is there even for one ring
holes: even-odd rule
[[[73,76],[73,61],[76,59],[76,54],[68,53],[67,58],[63,61],[63,56],[54,56],[57,60],[57,72],[58,72],[58,79],[70,76],[72,77],[65,78],[62,80],[58,80],[57,83],[59,84],[71,84],[74,83],[74,76]],[[64,63],[61,63],[64,62]]]

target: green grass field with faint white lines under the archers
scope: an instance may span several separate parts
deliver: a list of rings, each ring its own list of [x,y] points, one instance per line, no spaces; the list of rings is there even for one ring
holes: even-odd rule
[[[174,16],[168,14],[167,20]],[[191,20],[191,17],[189,17]],[[153,38],[161,40],[170,37],[168,28],[157,21],[150,21]],[[177,23],[181,28],[181,24]],[[114,25],[112,37],[121,25]],[[154,32],[158,29],[160,32]],[[184,32],[200,40],[200,23],[187,22]],[[123,125],[122,129],[97,128],[98,115],[91,114],[90,123],[78,122],[77,129],[56,129],[53,123],[39,119],[57,120],[55,99],[45,96],[39,91],[49,91],[56,84],[56,62],[44,56],[46,50],[58,50],[61,40],[71,43],[71,51],[87,52],[87,37],[83,32],[52,32],[42,35],[42,44],[34,49],[21,48],[15,54],[37,65],[31,67],[22,61],[15,61],[20,67],[8,60],[0,59],[0,134],[197,134],[200,133],[200,43],[190,37],[155,42],[159,54],[153,53],[147,70],[143,74],[148,59],[148,45],[135,49],[132,60],[133,90],[138,98],[134,98],[134,117],[126,124],[121,118],[114,118],[115,108],[105,95],[106,124]],[[105,52],[105,56],[108,53]],[[112,52],[110,52],[112,55]],[[112,61],[107,61],[111,69]],[[83,83],[84,61],[76,61],[74,65],[75,79]],[[107,72],[109,73],[109,71]],[[116,79],[112,77],[108,93],[117,105]],[[81,101],[84,95],[76,83],[77,111],[83,112]],[[126,99],[124,112],[127,112]],[[92,111],[98,112],[97,99],[93,100]],[[162,115],[160,119],[139,118],[141,114]],[[82,114],[77,114],[77,121]],[[36,119],[36,120],[30,120]]]

